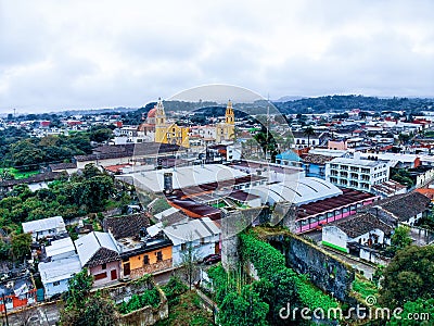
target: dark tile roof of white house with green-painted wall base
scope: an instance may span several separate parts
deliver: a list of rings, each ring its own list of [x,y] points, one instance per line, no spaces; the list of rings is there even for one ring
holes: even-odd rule
[[[386,235],[392,233],[392,227],[370,213],[358,213],[348,218],[330,223],[330,225],[339,227],[350,238],[357,238],[374,229],[381,229]]]

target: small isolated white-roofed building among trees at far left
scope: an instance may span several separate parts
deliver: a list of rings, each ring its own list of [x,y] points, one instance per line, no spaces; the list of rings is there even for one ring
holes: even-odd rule
[[[23,231],[25,234],[30,234],[31,239],[37,241],[38,239],[46,238],[48,236],[53,237],[65,234],[66,228],[62,216],[54,216],[38,221],[25,222],[23,223]]]

